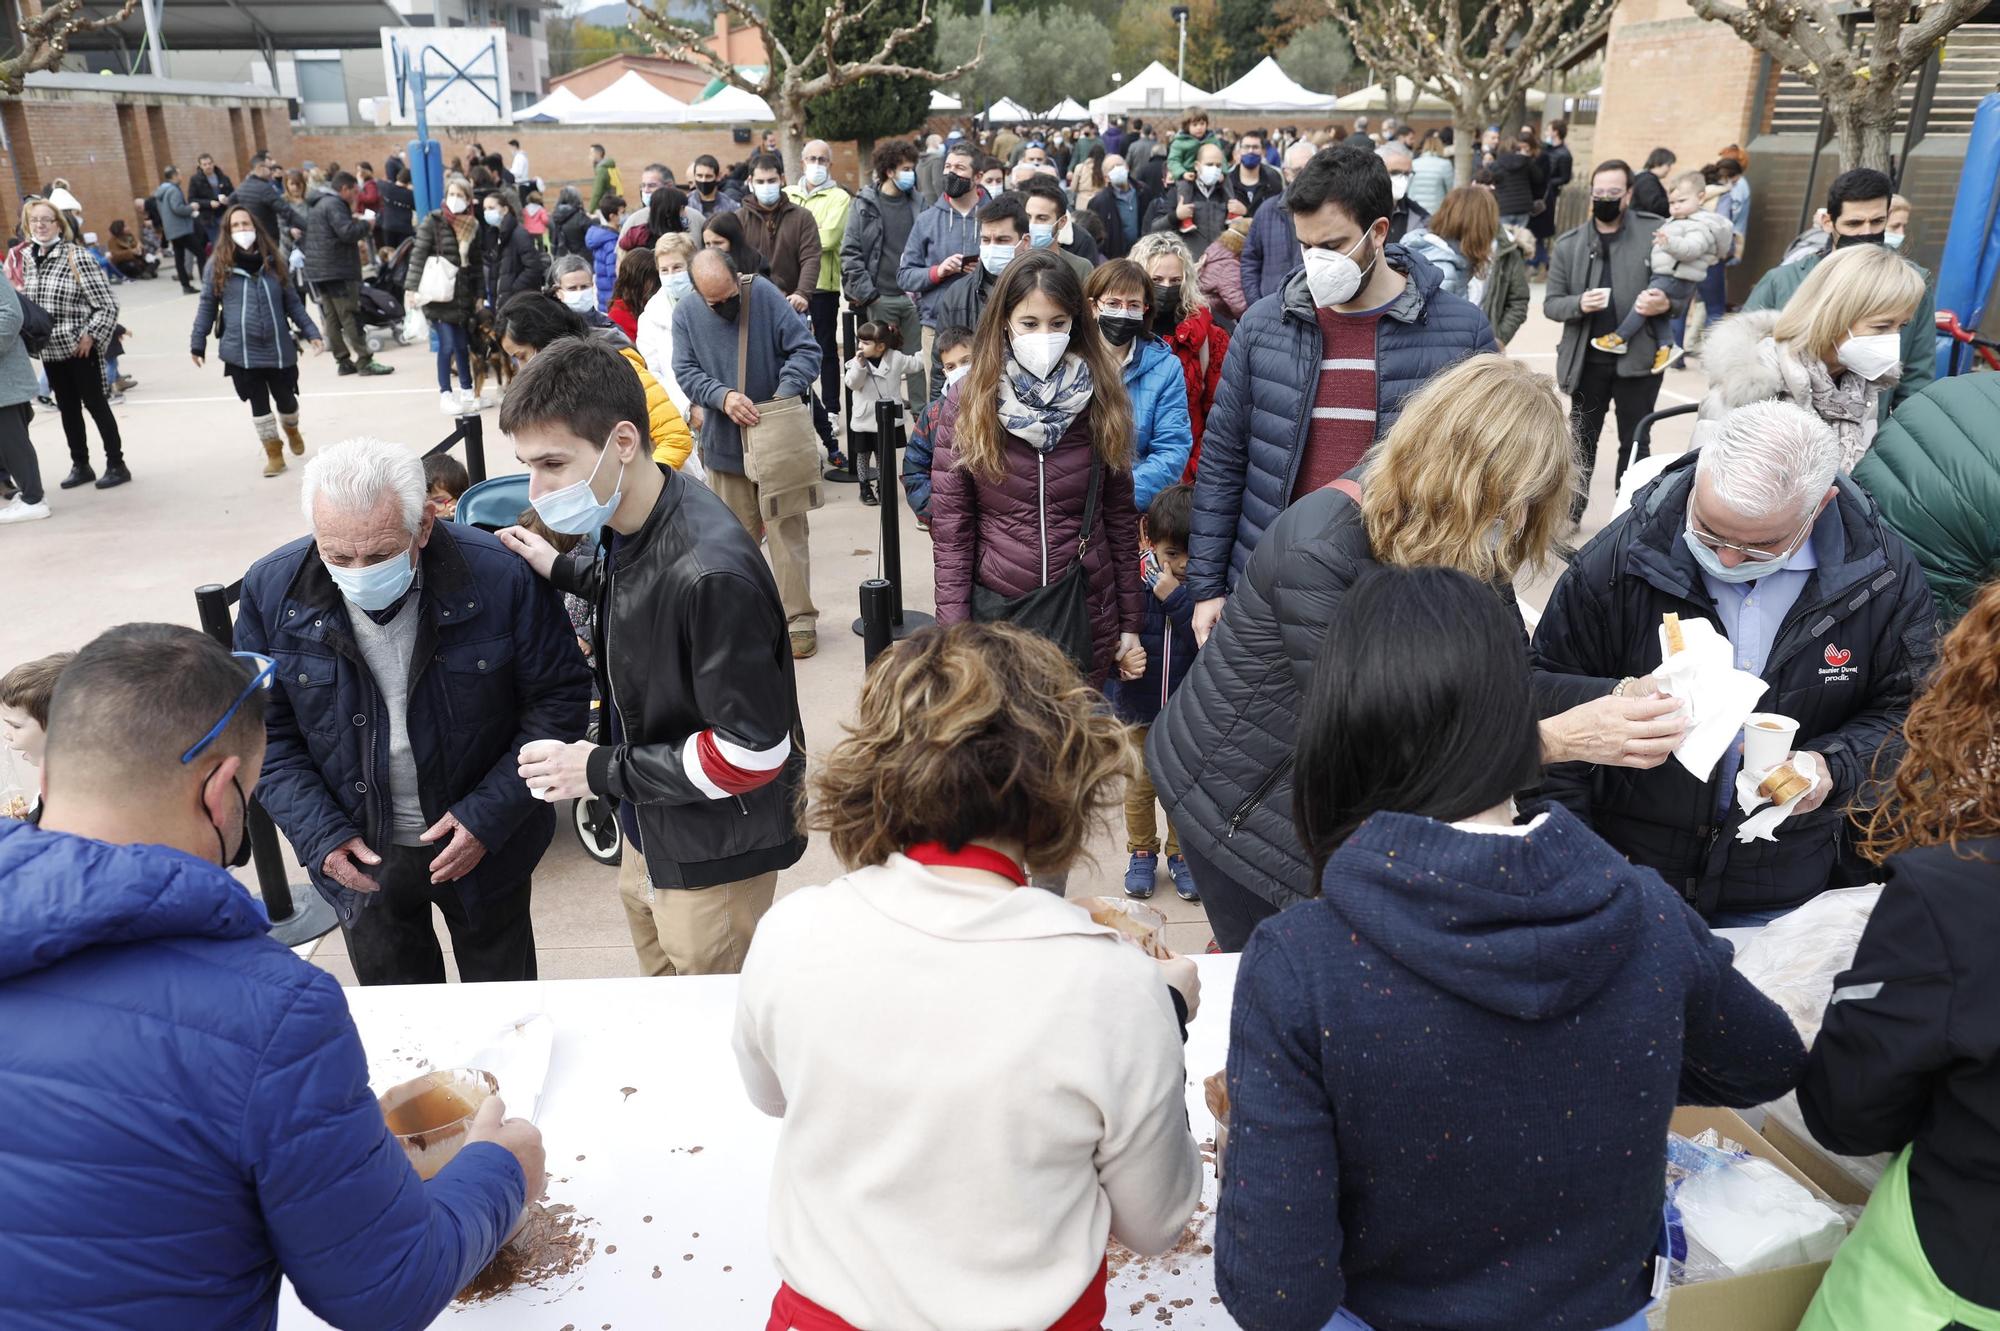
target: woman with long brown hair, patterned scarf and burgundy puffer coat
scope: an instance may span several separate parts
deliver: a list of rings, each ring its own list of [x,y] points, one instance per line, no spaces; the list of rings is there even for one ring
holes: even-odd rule
[[[1092,683],[1142,673],[1132,402],[1058,254],[1028,252],[994,284],[930,476],[940,624],[1028,624]]]

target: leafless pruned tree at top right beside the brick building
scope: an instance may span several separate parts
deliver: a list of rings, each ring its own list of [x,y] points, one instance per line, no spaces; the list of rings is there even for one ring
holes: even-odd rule
[[[1850,28],[1826,0],[1688,0],[1696,14],[1792,70],[1820,94],[1840,136],[1840,164],[1886,172],[1902,84],[1984,0],[1862,0],[1868,34]]]

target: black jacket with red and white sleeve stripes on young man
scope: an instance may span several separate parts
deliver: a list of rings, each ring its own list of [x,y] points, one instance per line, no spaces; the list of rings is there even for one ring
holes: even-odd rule
[[[596,606],[600,743],[590,789],[636,813],[654,887],[798,863],[806,731],[778,584],[706,486],[666,474],[634,536],[556,560]],[[632,853],[630,849],[626,853]]]

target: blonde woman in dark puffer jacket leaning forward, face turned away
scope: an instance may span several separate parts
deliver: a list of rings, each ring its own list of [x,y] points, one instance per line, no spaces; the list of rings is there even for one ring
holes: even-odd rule
[[[1358,476],[1298,500],[1264,534],[1146,743],[1224,951],[1240,951],[1258,919],[1314,889],[1292,827],[1290,769],[1300,697],[1334,606],[1382,564],[1454,568],[1514,606],[1514,582],[1558,554],[1576,486],[1554,380],[1474,356],[1408,398]],[[1526,660],[1526,628],[1520,650]],[[1654,767],[1680,743],[1678,703],[1652,697],[1650,681],[1630,697],[1540,671],[1534,685],[1546,763]]]

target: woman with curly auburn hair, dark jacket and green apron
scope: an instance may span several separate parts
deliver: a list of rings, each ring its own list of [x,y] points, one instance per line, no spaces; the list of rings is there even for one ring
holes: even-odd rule
[[[1882,865],[1798,1107],[1828,1151],[1894,1161],[1802,1331],[2000,1325],[2000,582],[1940,650],[1866,815]]]

